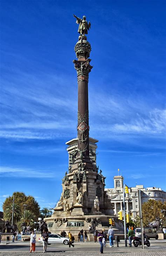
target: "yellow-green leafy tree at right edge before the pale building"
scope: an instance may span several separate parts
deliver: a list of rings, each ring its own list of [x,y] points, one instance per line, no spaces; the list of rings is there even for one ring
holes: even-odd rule
[[[144,222],[150,223],[155,221],[156,217],[162,219],[162,210],[166,210],[166,202],[162,203],[161,201],[150,199],[148,202],[143,203],[142,213]]]

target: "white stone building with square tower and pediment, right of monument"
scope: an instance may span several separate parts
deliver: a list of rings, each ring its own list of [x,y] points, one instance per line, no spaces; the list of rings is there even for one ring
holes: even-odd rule
[[[118,215],[118,211],[122,210],[123,202],[123,176],[114,176],[114,188],[105,188],[111,202],[115,206],[115,214]],[[127,184],[126,184],[127,185]],[[126,212],[129,213],[134,220],[139,215],[138,205],[138,189],[141,190],[141,203],[147,202],[149,199],[160,200],[162,203],[166,201],[166,192],[161,188],[151,187],[144,188],[143,185],[136,185],[129,189],[129,194],[125,194],[125,207]]]

